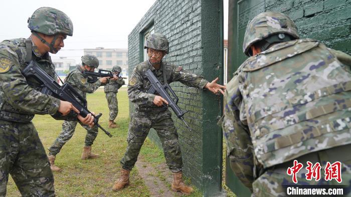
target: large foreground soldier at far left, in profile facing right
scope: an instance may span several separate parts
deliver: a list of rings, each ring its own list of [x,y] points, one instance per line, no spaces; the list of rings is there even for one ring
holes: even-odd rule
[[[56,54],[64,47],[63,40],[73,34],[72,21],[59,10],[40,8],[28,22],[30,38],[0,43],[0,196],[6,195],[9,173],[22,196],[55,196],[48,157],[32,123],[35,114],[61,120],[78,117],[93,125],[91,114],[77,116],[79,111],[71,103],[42,94],[40,84],[21,73],[36,61],[55,78],[48,52]]]

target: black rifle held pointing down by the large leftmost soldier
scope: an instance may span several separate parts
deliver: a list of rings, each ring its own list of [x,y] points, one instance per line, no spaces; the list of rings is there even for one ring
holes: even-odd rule
[[[26,78],[33,78],[42,85],[41,92],[58,98],[63,101],[68,101],[79,110],[79,115],[86,117],[91,113],[87,108],[87,101],[68,83],[60,86],[53,78],[51,78],[46,72],[44,72],[35,61],[31,61],[30,64],[23,70],[22,73]],[[81,103],[83,104],[81,104]],[[112,137],[111,133],[106,131],[98,123],[101,113],[94,116],[94,124],[103,130],[106,135]]]

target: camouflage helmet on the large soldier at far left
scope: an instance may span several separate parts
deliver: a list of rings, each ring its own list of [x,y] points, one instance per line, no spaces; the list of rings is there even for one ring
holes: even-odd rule
[[[48,7],[39,8],[33,13],[28,19],[28,28],[46,35],[73,35],[71,19],[65,13]]]

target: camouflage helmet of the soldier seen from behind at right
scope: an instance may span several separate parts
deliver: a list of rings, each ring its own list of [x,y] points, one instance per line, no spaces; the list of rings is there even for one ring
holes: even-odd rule
[[[246,27],[243,43],[245,55],[249,56],[249,50],[253,44],[276,34],[287,34],[294,39],[299,39],[297,27],[288,16],[275,12],[257,15]]]

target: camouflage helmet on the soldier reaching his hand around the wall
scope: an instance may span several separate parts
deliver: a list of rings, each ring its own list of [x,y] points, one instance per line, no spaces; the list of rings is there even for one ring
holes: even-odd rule
[[[166,54],[169,52],[168,39],[162,34],[154,33],[147,37],[144,49],[150,48],[158,51],[164,51]]]

